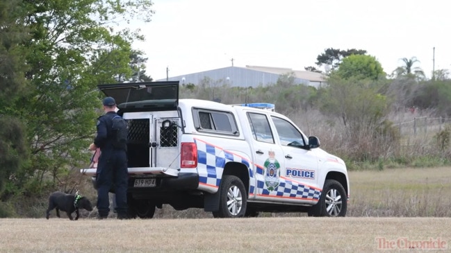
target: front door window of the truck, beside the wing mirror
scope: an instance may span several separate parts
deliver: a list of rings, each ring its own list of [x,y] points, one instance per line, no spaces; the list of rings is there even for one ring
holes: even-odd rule
[[[277,129],[277,133],[279,134],[281,145],[295,147],[305,146],[301,132],[299,132],[299,130],[297,130],[294,125],[284,119],[280,119],[274,116],[272,116],[271,118]]]

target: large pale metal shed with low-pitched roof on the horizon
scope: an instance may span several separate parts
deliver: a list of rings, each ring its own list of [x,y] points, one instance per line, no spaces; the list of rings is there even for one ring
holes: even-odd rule
[[[246,67],[232,66],[198,73],[187,73],[182,76],[173,76],[157,81],[170,80],[180,81],[182,85],[189,83],[200,85],[202,80],[209,80],[213,85],[228,84],[232,87],[259,87],[274,85],[280,75],[290,72],[295,74],[295,83],[297,84],[304,84],[318,88],[320,85],[325,83],[322,73],[279,67],[249,65]]]

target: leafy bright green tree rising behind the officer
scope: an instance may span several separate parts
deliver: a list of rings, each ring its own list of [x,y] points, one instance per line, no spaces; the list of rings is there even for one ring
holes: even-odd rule
[[[151,5],[149,0],[23,1],[27,13],[17,23],[31,34],[22,43],[33,52],[24,55],[31,86],[12,107],[26,122],[32,156],[21,171],[29,182],[13,182],[18,189],[39,194],[88,160],[84,150],[101,106],[97,85],[130,78],[131,43],[143,40],[139,31],[118,30],[117,24],[135,17],[150,21]]]

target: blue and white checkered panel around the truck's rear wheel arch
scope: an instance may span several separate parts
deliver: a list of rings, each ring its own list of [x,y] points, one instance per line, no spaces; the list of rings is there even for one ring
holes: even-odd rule
[[[197,146],[197,173],[199,173],[199,189],[215,193],[221,184],[222,173],[227,162],[245,164],[249,171],[249,192],[254,193],[255,180],[249,160],[218,146],[206,143],[200,139],[194,140]]]

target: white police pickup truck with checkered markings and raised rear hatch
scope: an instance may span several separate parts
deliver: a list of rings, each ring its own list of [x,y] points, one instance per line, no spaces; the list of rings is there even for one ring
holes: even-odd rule
[[[179,82],[99,89],[115,98],[128,123],[132,217],[152,218],[162,204],[203,208],[217,218],[261,211],[345,216],[350,196],[345,163],[286,116],[179,99]],[[81,173],[95,177],[96,170]]]

